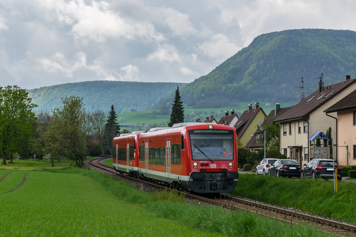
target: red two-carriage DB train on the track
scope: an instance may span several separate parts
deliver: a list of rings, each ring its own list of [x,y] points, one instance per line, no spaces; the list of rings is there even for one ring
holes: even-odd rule
[[[121,134],[112,143],[112,166],[122,173],[197,193],[231,192],[237,184],[231,126],[180,123]]]

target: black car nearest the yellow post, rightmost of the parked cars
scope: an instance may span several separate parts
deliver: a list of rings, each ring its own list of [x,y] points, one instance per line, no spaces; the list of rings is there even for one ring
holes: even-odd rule
[[[335,169],[337,169],[337,179],[342,178],[342,168],[334,161]],[[300,172],[301,177],[308,178],[333,178],[333,160],[331,159],[314,159],[309,161],[308,164],[304,164],[302,171]]]

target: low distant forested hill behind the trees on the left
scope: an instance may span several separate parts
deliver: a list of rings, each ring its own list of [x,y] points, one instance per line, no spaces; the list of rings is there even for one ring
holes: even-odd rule
[[[146,109],[157,103],[159,98],[168,96],[177,86],[185,83],[171,82],[131,82],[131,81],[84,81],[55,86],[46,86],[27,90],[37,110],[58,108],[62,105],[61,97],[83,97],[85,107],[93,110],[101,108],[108,112],[114,104],[116,112]]]

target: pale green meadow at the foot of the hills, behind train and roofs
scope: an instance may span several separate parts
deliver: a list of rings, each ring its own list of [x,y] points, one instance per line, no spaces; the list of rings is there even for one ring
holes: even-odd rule
[[[242,113],[247,110],[247,105],[250,103],[252,102],[237,102],[235,106],[221,108],[193,108],[193,106],[186,106],[184,108],[185,122],[192,121],[195,117],[204,121],[205,117],[210,115],[213,115],[216,121],[219,121],[222,116],[225,116],[225,111],[230,112],[231,109],[234,109],[235,113],[239,114],[239,112]],[[274,104],[272,102],[261,101],[259,103],[266,115],[274,109]],[[266,107],[266,103],[269,103],[270,106]],[[289,107],[295,104],[296,102],[281,103],[281,107]],[[124,121],[120,123],[121,129],[126,128],[131,131],[145,130],[146,128],[149,130],[152,124],[156,123],[158,126],[162,126],[164,122],[169,121],[169,115],[160,114],[158,109],[117,114],[117,119],[120,119],[121,117],[124,119]]]

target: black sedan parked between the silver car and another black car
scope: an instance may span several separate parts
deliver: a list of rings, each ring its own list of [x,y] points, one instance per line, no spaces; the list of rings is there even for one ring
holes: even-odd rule
[[[302,167],[295,160],[277,160],[274,164],[269,168],[269,175],[279,176],[300,176],[300,169]]]

